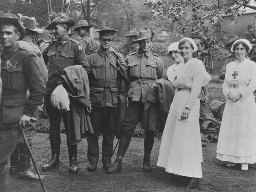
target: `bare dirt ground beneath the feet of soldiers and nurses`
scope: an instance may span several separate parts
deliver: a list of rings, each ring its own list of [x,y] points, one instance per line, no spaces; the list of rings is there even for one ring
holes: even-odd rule
[[[33,137],[33,155],[41,167],[50,157],[50,144],[47,134],[39,133]],[[69,160],[65,135],[61,135],[61,164],[59,168],[45,175],[48,192],[185,192],[184,181],[178,176],[168,174],[163,168],[156,167],[160,140],[154,144],[151,162],[153,172],[143,172],[143,138],[132,138],[132,142],[123,161],[123,170],[119,174],[109,175],[98,164],[96,172],[87,172],[87,143],[83,140],[78,145],[78,164],[80,172],[68,172]],[[100,138],[100,144],[102,138]],[[115,140],[117,142],[117,140]],[[239,167],[227,168],[216,156],[217,144],[209,143],[203,148],[203,178],[200,179],[200,191],[203,192],[255,192],[256,165],[250,165],[249,171],[242,172]],[[115,155],[114,155],[115,157]],[[112,161],[114,161],[114,157]],[[41,192],[39,182],[17,180],[7,176],[9,192]],[[0,189],[1,191],[1,189]],[[193,190],[198,191],[198,190]]]

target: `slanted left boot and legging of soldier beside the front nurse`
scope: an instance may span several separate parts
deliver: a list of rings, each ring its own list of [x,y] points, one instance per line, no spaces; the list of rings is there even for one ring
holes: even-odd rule
[[[127,148],[129,147],[131,141],[131,137],[127,135],[122,135],[119,147],[117,151],[117,158],[113,165],[107,170],[108,174],[116,174],[118,172],[121,172],[122,170],[122,159],[124,157],[124,154],[126,153]]]

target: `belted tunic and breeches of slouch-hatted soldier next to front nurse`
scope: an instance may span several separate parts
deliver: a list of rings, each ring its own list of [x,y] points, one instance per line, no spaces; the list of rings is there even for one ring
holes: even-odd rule
[[[124,123],[123,134],[131,137],[134,129],[141,120],[144,103],[148,92],[157,79],[167,79],[163,61],[150,50],[142,52],[140,49],[129,54],[125,62],[128,65],[129,89],[128,109]]]

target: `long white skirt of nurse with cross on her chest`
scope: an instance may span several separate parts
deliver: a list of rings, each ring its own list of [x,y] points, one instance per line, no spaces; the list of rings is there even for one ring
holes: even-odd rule
[[[253,94],[237,102],[226,100],[217,159],[234,163],[256,162],[256,104]]]

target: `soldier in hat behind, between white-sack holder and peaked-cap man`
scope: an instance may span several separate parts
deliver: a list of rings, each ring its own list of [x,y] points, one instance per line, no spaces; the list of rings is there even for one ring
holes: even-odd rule
[[[91,26],[88,25],[86,20],[80,20],[75,28],[75,31],[77,31],[78,35],[81,37],[79,42],[81,42],[86,55],[96,50],[95,41],[89,34],[90,28]]]

